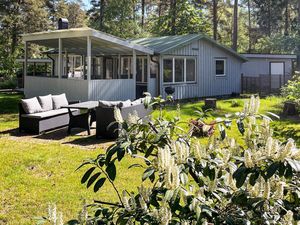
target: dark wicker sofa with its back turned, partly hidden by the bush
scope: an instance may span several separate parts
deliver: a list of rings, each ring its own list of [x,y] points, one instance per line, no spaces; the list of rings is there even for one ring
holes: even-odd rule
[[[129,100],[127,100],[127,104],[123,105],[122,102],[110,102],[112,104],[103,105],[102,102],[104,101],[99,101],[99,106],[96,108],[96,138],[115,139],[118,137],[118,124],[113,123],[115,122],[115,107],[120,108],[124,120],[126,120],[128,115],[134,111],[137,112],[140,118],[144,118],[151,112],[150,109],[145,108],[142,99],[138,99],[131,103],[128,101]]]

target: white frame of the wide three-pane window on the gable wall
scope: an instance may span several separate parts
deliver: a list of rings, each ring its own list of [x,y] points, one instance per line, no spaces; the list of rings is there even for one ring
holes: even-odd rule
[[[164,74],[162,74],[163,84],[194,84],[197,83],[197,57],[196,56],[164,56],[162,58],[162,72],[164,71],[164,60],[171,59],[172,60],[172,82],[164,82]],[[183,72],[183,81],[175,82],[175,59],[183,59],[184,72]],[[186,60],[193,59],[195,61],[195,80],[187,81],[186,80]]]

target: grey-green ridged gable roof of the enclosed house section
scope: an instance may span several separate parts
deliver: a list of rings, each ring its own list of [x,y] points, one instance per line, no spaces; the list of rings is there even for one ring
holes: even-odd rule
[[[215,40],[207,37],[203,34],[187,34],[187,35],[174,35],[174,36],[163,36],[163,37],[149,37],[149,38],[139,38],[139,39],[131,39],[130,41],[139,45],[143,45],[145,47],[151,48],[155,53],[163,54],[167,53],[170,50],[180,48],[186,46],[193,41],[205,39],[219,48],[227,51],[228,53],[234,55],[235,57],[241,59],[242,61],[247,61],[247,58],[238,54],[234,50],[227,48]]]

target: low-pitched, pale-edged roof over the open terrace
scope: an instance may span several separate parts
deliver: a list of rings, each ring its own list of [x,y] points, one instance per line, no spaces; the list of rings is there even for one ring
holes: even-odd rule
[[[88,27],[36,32],[23,34],[22,37],[24,41],[33,42],[51,48],[58,47],[58,42],[56,41],[58,38],[63,38],[63,40],[68,39],[69,42],[72,42],[72,45],[67,47],[86,47],[85,38],[91,37],[94,42],[98,43],[99,49],[107,48],[111,49],[112,52],[113,50],[117,52],[118,48],[123,52],[134,49],[141,53],[153,54],[153,50],[150,48]],[[68,43],[66,42],[66,44]]]

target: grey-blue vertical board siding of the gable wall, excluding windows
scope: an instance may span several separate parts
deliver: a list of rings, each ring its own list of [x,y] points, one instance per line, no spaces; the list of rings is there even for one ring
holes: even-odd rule
[[[232,92],[240,92],[242,61],[215,44],[199,40],[187,46],[166,52],[161,56],[161,65],[163,57],[172,55],[197,57],[196,83],[170,85],[163,84],[161,81],[161,94],[164,97],[166,96],[164,91],[166,86],[175,87],[175,99],[221,96],[230,95]],[[217,77],[215,75],[215,58],[226,59],[226,76]],[[162,67],[160,71],[162,74]]]

